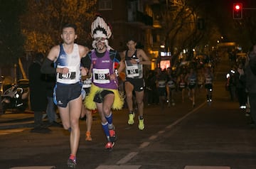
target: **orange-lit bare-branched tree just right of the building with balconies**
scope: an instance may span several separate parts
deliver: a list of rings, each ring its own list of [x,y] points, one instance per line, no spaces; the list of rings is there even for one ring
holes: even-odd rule
[[[171,50],[171,53],[174,53],[174,50],[180,53],[184,48],[192,50],[206,33],[206,30],[198,30],[198,11],[193,6],[188,6],[186,0],[168,2],[169,4],[165,4],[164,9],[160,10],[166,50]]]

